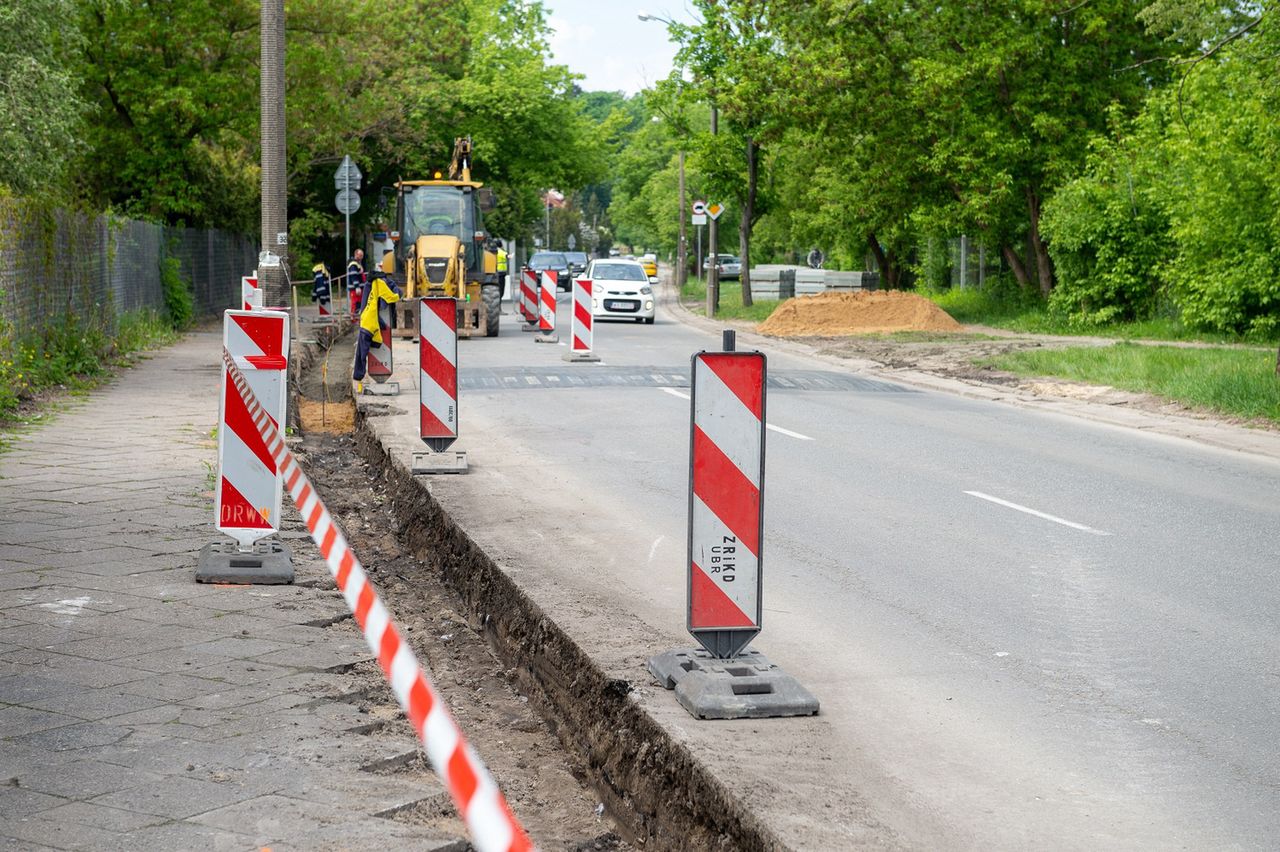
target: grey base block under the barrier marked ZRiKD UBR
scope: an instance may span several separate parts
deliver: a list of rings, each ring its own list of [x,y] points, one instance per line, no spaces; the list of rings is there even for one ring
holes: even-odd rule
[[[703,649],[649,659],[649,673],[698,719],[813,716],[818,700],[759,651],[718,660]]]

